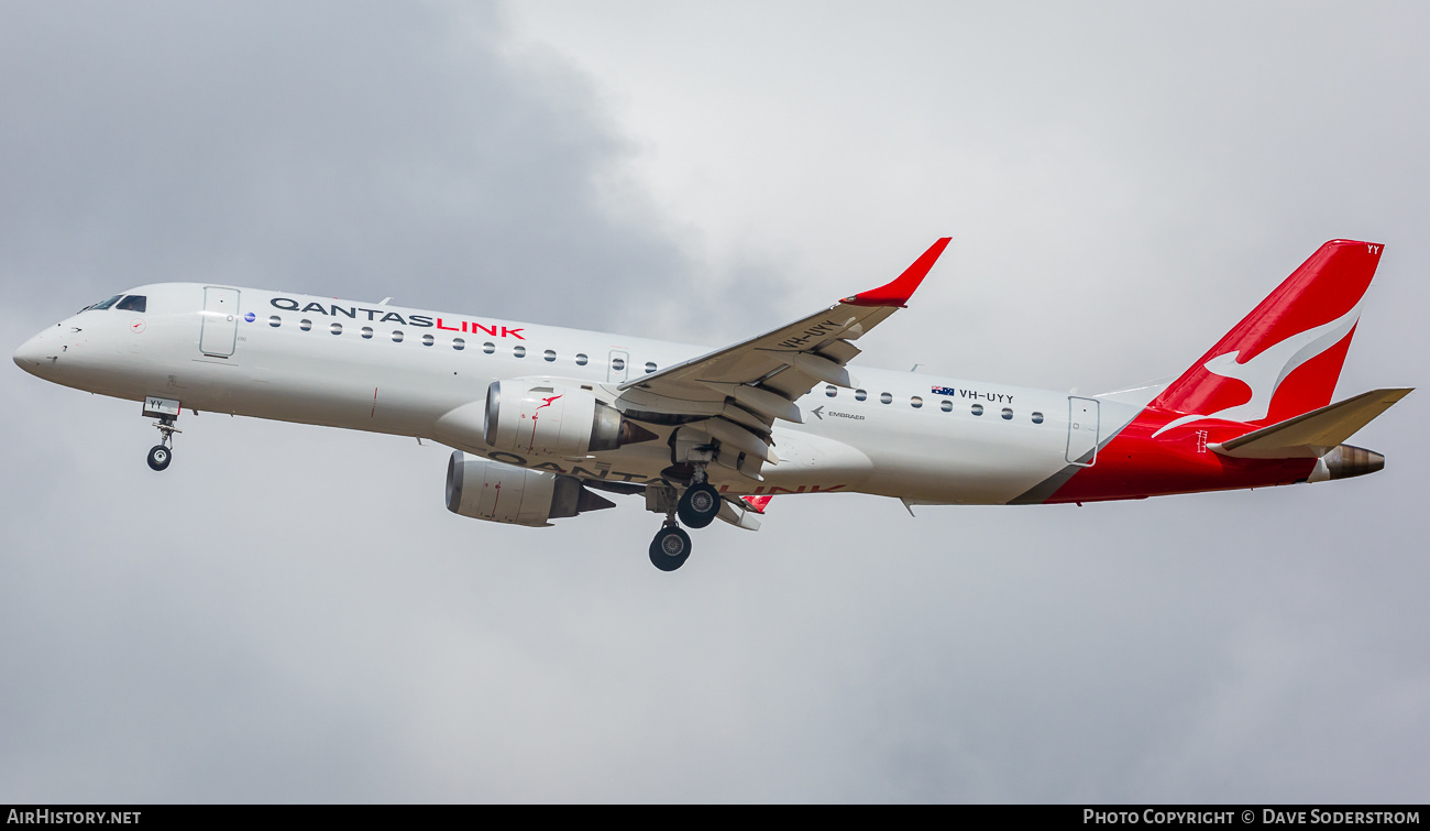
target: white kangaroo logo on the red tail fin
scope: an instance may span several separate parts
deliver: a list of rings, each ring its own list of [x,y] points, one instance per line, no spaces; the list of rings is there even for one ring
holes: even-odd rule
[[[1330,323],[1291,335],[1246,363],[1237,363],[1240,350],[1218,355],[1203,363],[1207,372],[1223,378],[1234,378],[1250,386],[1251,400],[1214,413],[1175,418],[1153,433],[1153,438],[1155,439],[1173,428],[1201,419],[1224,419],[1228,422],[1257,422],[1264,419],[1271,412],[1271,399],[1276,398],[1276,390],[1281,388],[1286,376],[1291,375],[1297,366],[1340,343],[1356,328],[1356,323],[1360,320],[1360,303],[1363,300],[1357,300],[1350,312],[1346,312]]]

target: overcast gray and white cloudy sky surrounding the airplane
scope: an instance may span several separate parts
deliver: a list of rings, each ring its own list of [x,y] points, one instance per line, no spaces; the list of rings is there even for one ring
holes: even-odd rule
[[[868,366],[1180,373],[1386,243],[1337,395],[1420,386],[1410,3],[0,3],[0,343],[213,280],[726,343],[954,243]],[[528,529],[448,451],[0,372],[0,801],[1426,801],[1424,393],[1384,472]]]

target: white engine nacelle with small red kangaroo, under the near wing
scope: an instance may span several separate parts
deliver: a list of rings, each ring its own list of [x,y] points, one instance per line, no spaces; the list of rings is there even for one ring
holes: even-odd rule
[[[493,380],[486,389],[488,445],[522,455],[583,456],[654,439],[579,383],[545,378]]]

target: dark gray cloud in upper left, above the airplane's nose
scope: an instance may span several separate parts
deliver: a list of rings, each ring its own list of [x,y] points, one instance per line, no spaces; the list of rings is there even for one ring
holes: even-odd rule
[[[628,149],[583,80],[503,56],[489,4],[4,14],[14,292],[219,279],[573,323],[686,270],[599,203]]]

